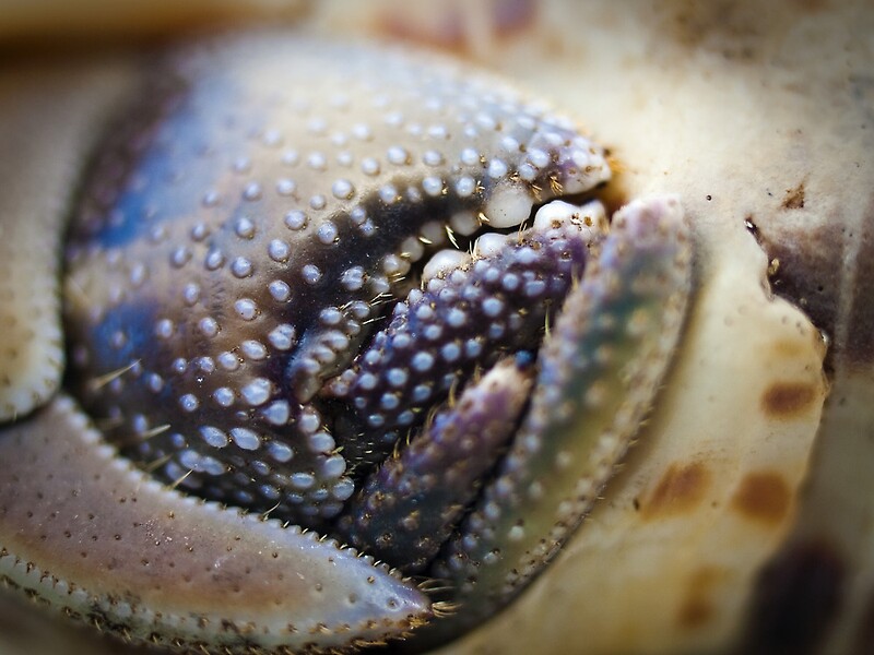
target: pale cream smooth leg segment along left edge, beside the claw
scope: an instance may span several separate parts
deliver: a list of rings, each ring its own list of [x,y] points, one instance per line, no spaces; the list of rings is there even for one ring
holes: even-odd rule
[[[26,416],[57,389],[61,225],[90,135],[130,72],[109,62],[101,71],[36,64],[0,79],[0,214],[13,217],[0,226],[0,420]]]

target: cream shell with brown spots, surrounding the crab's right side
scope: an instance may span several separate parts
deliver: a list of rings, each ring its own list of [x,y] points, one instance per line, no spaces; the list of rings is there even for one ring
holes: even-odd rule
[[[550,572],[446,652],[867,652],[874,8],[333,1],[306,20],[504,72],[611,147],[617,202],[680,193],[695,233],[697,297],[639,443]],[[25,93],[98,116],[128,78],[109,59],[83,62],[81,84],[31,73],[0,116]],[[48,144],[84,138],[58,122],[66,136],[23,128],[24,181],[50,170]],[[28,620],[0,623],[0,650]]]

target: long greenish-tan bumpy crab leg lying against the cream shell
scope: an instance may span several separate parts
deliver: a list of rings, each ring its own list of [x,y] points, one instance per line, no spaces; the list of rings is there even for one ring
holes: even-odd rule
[[[540,356],[531,409],[434,572],[454,588],[449,636],[516,595],[591,509],[670,362],[689,294],[687,228],[674,198],[617,213]]]

